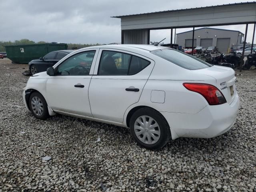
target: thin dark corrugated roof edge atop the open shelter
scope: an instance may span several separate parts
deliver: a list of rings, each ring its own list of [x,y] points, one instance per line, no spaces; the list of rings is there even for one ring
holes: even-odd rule
[[[206,7],[196,7],[196,8],[188,8],[188,9],[177,9],[177,10],[167,10],[167,11],[158,11],[158,12],[150,12],[150,13],[140,13],[140,14],[131,14],[131,15],[121,15],[121,16],[112,16],[112,18],[122,18],[127,16],[139,16],[139,15],[147,15],[147,14],[156,14],[156,13],[166,13],[166,12],[176,12],[176,11],[184,11],[184,10],[196,10],[196,9],[204,9],[204,8],[214,8],[214,7],[223,7],[223,6],[232,6],[232,5],[244,5],[244,4],[256,4],[256,2],[241,2],[241,3],[230,3],[223,5],[214,5],[214,6],[206,6]]]

